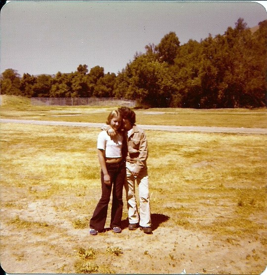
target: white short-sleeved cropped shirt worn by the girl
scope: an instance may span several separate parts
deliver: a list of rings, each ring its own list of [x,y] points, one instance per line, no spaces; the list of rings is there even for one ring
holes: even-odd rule
[[[122,157],[123,136],[110,137],[105,130],[98,134],[97,149],[105,150],[106,157]]]

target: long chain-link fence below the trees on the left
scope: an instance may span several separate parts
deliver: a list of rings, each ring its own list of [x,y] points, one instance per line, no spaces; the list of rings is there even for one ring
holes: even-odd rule
[[[136,100],[126,98],[56,98],[56,97],[32,97],[31,104],[35,106],[126,106],[133,108]]]

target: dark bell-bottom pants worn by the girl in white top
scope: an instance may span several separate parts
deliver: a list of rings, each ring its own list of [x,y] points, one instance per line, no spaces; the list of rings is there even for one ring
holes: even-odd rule
[[[104,174],[101,170],[102,195],[90,219],[90,228],[102,232],[107,219],[108,204],[112,191],[112,206],[110,227],[121,227],[123,213],[123,186],[126,177],[125,161],[120,163],[106,163],[111,185],[104,183]]]

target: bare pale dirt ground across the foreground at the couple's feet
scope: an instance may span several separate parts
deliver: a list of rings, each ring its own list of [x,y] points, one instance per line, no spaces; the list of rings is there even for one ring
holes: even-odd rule
[[[60,198],[57,202],[20,198],[21,209],[1,209],[2,221],[14,220],[1,226],[1,263],[7,273],[74,274],[81,247],[95,250],[90,262],[99,273],[179,274],[185,269],[191,274],[259,274],[267,259],[263,244],[253,236],[224,237],[197,228],[171,227],[168,220],[172,218],[159,213],[152,214],[153,235],[129,231],[125,220],[122,234],[107,231],[89,236],[88,228],[75,229],[64,218],[79,213],[70,209],[62,215],[55,210],[56,203],[62,203]],[[201,215],[205,210],[196,204]],[[220,213],[219,206],[214,208],[210,219]],[[26,220],[31,223],[23,227]],[[108,247],[119,247],[123,253],[110,255]]]

